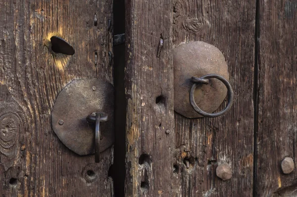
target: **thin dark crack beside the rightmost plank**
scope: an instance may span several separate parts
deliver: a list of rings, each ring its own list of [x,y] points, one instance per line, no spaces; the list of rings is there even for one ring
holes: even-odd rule
[[[260,48],[260,0],[256,0],[255,14],[255,56],[254,56],[254,75],[253,75],[253,105],[254,105],[254,147],[253,147],[253,197],[256,197],[256,181],[257,181],[257,136],[259,127],[259,48]]]

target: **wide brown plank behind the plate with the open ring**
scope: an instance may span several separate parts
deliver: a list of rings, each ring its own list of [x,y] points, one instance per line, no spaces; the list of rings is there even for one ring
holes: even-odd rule
[[[255,0],[174,1],[174,47],[203,41],[220,49],[228,64],[235,102],[218,118],[188,119],[175,113],[173,196],[252,196],[255,11]],[[215,169],[222,163],[232,168],[229,181],[216,177]]]

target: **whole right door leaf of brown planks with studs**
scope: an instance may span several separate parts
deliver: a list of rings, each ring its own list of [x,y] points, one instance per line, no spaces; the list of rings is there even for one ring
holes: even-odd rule
[[[126,0],[127,197],[297,196],[296,170],[281,168],[296,158],[296,10],[294,0]],[[193,41],[226,58],[235,102],[223,116],[174,112],[171,50]],[[223,163],[228,181],[216,176]]]

